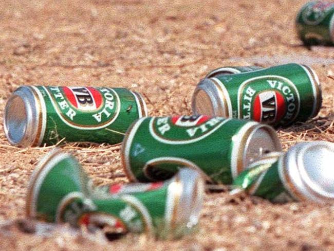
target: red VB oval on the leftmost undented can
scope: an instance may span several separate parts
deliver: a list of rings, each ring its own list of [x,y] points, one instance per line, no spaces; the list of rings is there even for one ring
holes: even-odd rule
[[[92,87],[63,87],[68,101],[81,111],[94,111],[102,104],[102,95]]]

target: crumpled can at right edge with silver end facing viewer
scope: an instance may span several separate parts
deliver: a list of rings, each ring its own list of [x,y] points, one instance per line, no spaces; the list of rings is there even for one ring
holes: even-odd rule
[[[272,202],[333,201],[333,154],[333,143],[312,141],[265,155],[235,179],[232,193],[245,190]]]

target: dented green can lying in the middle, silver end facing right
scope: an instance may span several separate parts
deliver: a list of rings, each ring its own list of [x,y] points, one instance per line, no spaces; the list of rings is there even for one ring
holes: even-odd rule
[[[166,180],[187,166],[207,181],[231,184],[255,158],[280,150],[276,132],[254,121],[206,115],[146,117],[127,131],[122,162],[131,181]]]

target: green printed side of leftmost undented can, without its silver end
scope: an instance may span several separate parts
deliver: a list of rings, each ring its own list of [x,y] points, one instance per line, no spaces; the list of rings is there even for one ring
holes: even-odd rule
[[[127,128],[146,116],[142,97],[126,88],[30,86],[39,108],[35,145],[87,141],[119,144]]]

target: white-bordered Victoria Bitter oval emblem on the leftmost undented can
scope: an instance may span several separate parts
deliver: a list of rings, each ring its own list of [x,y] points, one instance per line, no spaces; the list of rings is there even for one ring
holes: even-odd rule
[[[118,94],[107,87],[45,87],[50,101],[64,123],[77,129],[104,128],[120,111]]]

